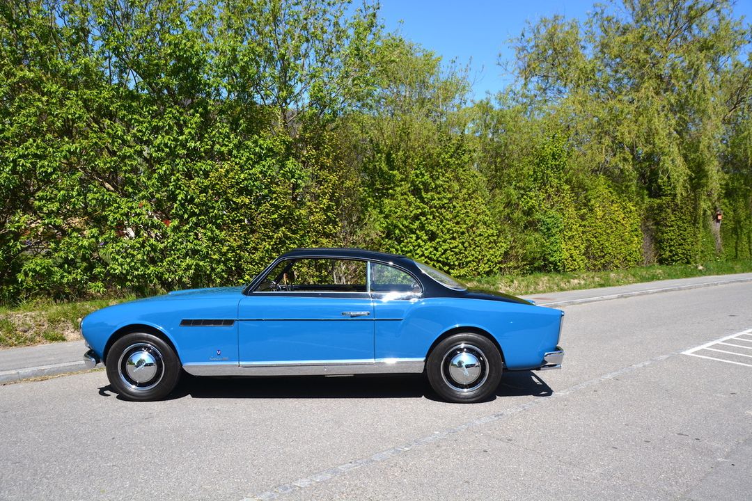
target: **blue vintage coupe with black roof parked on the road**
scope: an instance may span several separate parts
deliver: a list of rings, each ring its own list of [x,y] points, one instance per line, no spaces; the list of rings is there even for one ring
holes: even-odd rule
[[[425,373],[451,402],[477,402],[502,370],[561,367],[558,309],[485,294],[402,255],[296,249],[244,287],[174,291],[83,318],[100,361],[130,400],[194,376]]]

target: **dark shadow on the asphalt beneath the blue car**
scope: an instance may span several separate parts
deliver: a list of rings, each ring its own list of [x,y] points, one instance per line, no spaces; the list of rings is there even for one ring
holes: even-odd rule
[[[547,397],[553,392],[532,371],[509,372],[495,394],[499,397]],[[99,388],[102,397],[117,397],[110,385]],[[356,376],[356,377],[193,377],[183,374],[177,388],[165,400],[193,398],[423,398],[441,400],[429,387],[425,377]]]

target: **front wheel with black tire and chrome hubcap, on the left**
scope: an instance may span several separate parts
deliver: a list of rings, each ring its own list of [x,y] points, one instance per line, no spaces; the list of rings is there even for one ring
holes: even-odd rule
[[[180,379],[180,360],[161,337],[150,333],[126,334],[107,355],[107,377],[112,387],[128,400],[159,400]]]

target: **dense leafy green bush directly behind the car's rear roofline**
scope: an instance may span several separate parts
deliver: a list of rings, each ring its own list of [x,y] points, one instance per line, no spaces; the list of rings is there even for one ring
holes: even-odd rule
[[[421,149],[410,143],[406,136],[371,157],[368,170],[394,180],[369,194],[371,246],[457,276],[498,272],[507,243],[463,138],[441,135]]]

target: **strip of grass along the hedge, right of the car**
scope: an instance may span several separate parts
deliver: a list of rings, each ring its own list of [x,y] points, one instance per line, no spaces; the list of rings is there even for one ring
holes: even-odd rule
[[[611,287],[654,280],[685,279],[693,276],[729,275],[752,272],[752,261],[722,261],[707,264],[643,266],[616,271],[578,271],[572,273],[532,273],[530,275],[496,275],[470,279],[469,287],[507,294],[575,291],[584,288]]]

